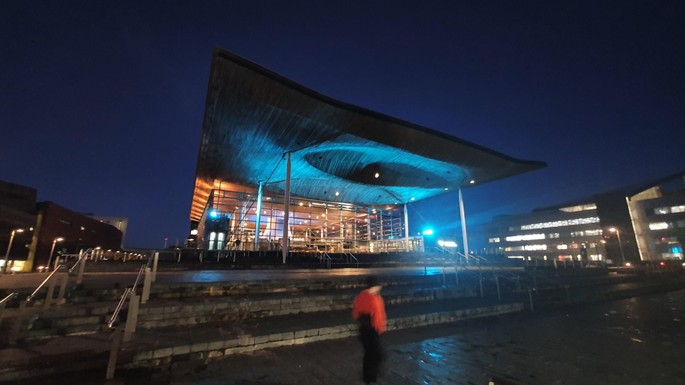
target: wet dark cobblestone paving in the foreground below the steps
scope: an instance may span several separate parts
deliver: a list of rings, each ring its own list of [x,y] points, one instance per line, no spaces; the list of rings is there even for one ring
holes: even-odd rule
[[[379,383],[685,384],[684,326],[685,292],[672,292],[388,332]],[[347,338],[231,356],[154,382],[361,384],[360,366],[359,342]]]

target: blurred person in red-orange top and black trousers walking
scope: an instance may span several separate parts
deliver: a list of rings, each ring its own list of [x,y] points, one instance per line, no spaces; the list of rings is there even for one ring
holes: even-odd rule
[[[359,325],[359,339],[364,347],[364,382],[371,384],[378,377],[380,363],[383,361],[383,347],[380,335],[385,332],[386,316],[383,297],[380,297],[381,286],[375,277],[364,281],[366,290],[357,295],[352,307],[352,318]]]

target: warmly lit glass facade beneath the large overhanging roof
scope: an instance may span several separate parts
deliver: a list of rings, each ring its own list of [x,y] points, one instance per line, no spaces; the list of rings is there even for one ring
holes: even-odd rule
[[[214,190],[199,222],[198,244],[208,250],[255,250],[257,194]],[[278,250],[284,227],[284,197],[265,194],[257,250]],[[404,208],[364,207],[291,198],[288,238],[292,251],[423,251],[423,236],[404,237]],[[407,245],[408,244],[408,245]]]

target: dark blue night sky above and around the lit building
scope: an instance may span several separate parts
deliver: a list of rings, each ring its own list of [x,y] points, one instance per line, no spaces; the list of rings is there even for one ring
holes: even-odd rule
[[[129,217],[129,247],[188,234],[213,46],[547,161],[465,191],[472,249],[493,215],[685,169],[685,1],[100,3],[1,2],[0,180]],[[457,232],[454,193],[412,206]]]

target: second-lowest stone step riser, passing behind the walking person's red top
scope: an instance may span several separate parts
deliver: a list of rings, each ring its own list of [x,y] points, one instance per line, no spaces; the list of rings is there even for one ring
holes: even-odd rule
[[[138,327],[196,325],[218,321],[266,318],[296,313],[351,309],[357,289],[335,290],[310,295],[261,295],[234,299],[232,297],[193,298],[185,301],[149,302],[140,308]],[[384,292],[387,304],[428,302],[437,299],[474,297],[467,288],[394,287]],[[105,306],[65,306],[32,320],[27,339],[84,334],[105,330],[105,324],[117,304]],[[59,315],[59,316],[56,316]]]

